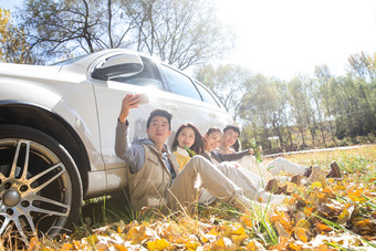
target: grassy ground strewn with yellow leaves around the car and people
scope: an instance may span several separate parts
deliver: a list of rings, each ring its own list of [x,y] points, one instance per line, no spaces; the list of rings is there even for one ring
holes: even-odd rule
[[[342,180],[297,187],[282,208],[240,212],[222,202],[169,216],[132,213],[125,194],[86,201],[76,230],[34,250],[367,250],[376,249],[376,146],[284,156]],[[271,159],[264,159],[264,163]],[[299,218],[302,218],[299,220]],[[299,222],[297,222],[299,221]]]

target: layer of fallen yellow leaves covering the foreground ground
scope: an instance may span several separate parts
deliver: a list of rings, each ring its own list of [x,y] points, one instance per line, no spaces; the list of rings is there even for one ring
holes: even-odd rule
[[[65,238],[67,243],[50,248],[38,239],[31,239],[29,250],[40,250],[44,245],[42,250],[45,251],[53,250],[55,247],[60,247],[61,250],[126,251],[127,249],[139,250],[139,245],[156,251],[330,250],[331,247],[325,243],[336,243],[351,249],[362,247],[367,250],[368,247],[363,240],[376,240],[376,212],[369,203],[362,201],[365,201],[365,197],[368,201],[375,201],[376,196],[373,184],[358,180],[348,176],[342,180],[326,182],[326,187],[322,187],[321,182],[300,186],[299,191],[291,195],[289,205],[268,209],[262,219],[255,211],[248,210],[243,212],[246,215],[231,215],[230,219],[221,218],[223,215],[215,215],[213,218],[218,219],[215,221],[202,218],[200,221],[199,217],[197,219],[176,217],[174,220],[166,218],[167,220],[150,221],[150,223],[134,221],[125,224],[123,222],[112,226],[115,239],[119,242],[111,242],[113,237],[108,232],[94,231],[97,234],[82,238],[80,241]],[[322,218],[325,220],[321,220]],[[261,222],[263,219],[264,221]],[[346,227],[352,228],[351,233],[344,237],[345,232],[341,228],[326,224],[326,220],[337,224],[348,223]],[[276,244],[272,245],[268,240],[259,238],[265,236],[265,232],[262,232],[263,227],[276,231],[274,242]],[[334,229],[336,231],[333,231]],[[255,239],[251,240],[253,237],[260,242]]]

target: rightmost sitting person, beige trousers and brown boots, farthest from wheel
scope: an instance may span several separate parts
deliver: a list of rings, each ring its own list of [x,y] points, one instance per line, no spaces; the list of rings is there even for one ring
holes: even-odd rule
[[[231,146],[238,140],[240,136],[240,129],[236,125],[227,125],[223,128],[223,137],[221,145],[216,149],[220,154],[233,154],[234,150]],[[278,157],[269,163],[267,166],[258,164],[255,158],[251,156],[252,150],[244,150],[246,153],[250,153],[246,155],[241,159],[239,159],[239,164],[246,169],[260,175],[260,177],[268,182],[267,188],[275,189],[275,176],[278,176],[281,171],[285,171],[290,175],[294,175],[292,181],[300,184],[301,177],[305,176],[309,178],[309,181],[315,181],[321,179],[322,177],[326,178],[341,178],[341,170],[336,163],[331,165],[331,171],[325,174],[321,170],[320,167],[304,167],[297,164],[294,164],[285,158]],[[243,151],[243,153],[244,153]]]

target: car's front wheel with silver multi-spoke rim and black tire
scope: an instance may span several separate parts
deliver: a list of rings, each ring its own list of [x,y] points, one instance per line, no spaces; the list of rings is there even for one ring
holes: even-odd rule
[[[81,202],[80,174],[63,146],[33,128],[0,125],[0,236],[27,244],[34,234],[55,237],[77,220]]]

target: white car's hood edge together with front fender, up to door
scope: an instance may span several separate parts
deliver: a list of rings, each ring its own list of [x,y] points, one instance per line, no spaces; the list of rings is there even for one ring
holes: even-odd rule
[[[58,66],[4,64],[0,67],[1,76],[4,75],[0,79],[0,100],[27,101],[59,114],[80,135],[92,169],[104,168],[96,103],[93,86],[84,79],[85,74],[62,74]],[[24,73],[22,81],[11,75],[18,69]],[[8,73],[3,74],[3,71]]]

